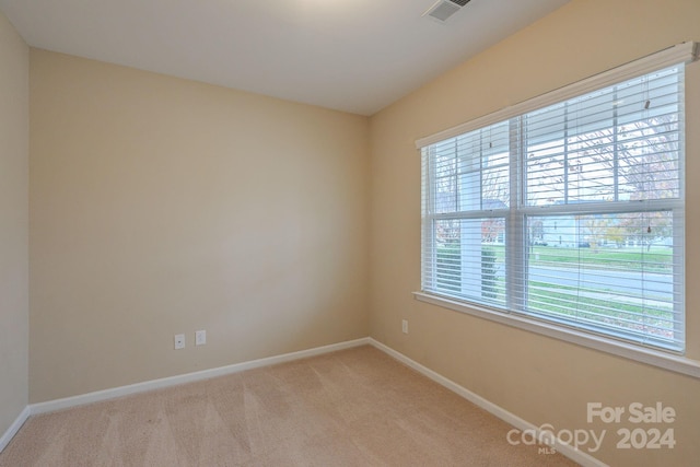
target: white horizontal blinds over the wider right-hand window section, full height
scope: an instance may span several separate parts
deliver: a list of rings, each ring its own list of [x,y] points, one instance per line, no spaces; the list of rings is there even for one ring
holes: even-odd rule
[[[523,116],[524,208],[539,209],[516,311],[682,349],[682,71]]]

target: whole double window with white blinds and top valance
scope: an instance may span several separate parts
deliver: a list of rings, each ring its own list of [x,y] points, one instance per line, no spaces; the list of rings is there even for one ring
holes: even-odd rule
[[[420,140],[422,291],[682,353],[695,48],[669,50]]]

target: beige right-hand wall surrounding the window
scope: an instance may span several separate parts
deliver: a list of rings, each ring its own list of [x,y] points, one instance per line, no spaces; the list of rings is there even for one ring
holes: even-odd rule
[[[700,40],[697,0],[574,0],[371,119],[371,336],[523,419],[557,430],[607,428],[612,465],[695,465],[700,380],[413,300],[420,289],[416,139],[684,40]],[[688,129],[700,128],[700,63],[687,69]],[[687,138],[688,354],[700,360],[700,132]],[[401,334],[401,318],[410,334]],[[626,425],[586,423],[586,402],[674,407],[674,450],[616,448]],[[634,428],[629,427],[628,428]],[[650,427],[645,427],[650,428]]]

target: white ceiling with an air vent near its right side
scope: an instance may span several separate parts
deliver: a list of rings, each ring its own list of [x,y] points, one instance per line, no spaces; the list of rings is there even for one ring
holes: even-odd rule
[[[568,0],[0,0],[33,47],[372,115]]]

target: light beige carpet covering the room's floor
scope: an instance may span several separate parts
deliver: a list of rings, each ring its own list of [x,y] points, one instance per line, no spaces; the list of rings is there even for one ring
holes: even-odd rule
[[[372,347],[32,417],[0,466],[574,466]]]

